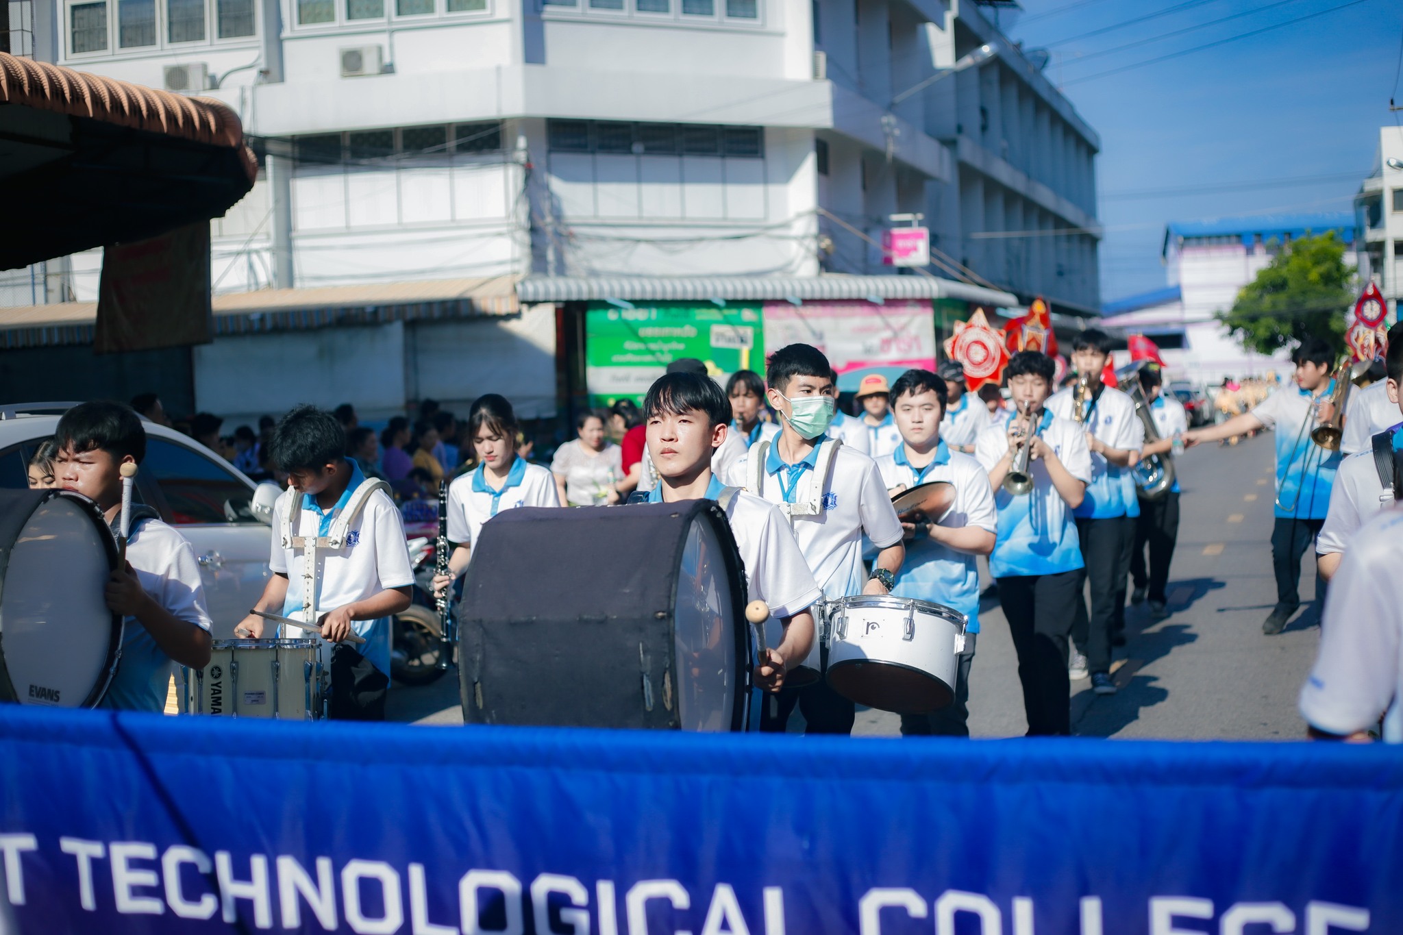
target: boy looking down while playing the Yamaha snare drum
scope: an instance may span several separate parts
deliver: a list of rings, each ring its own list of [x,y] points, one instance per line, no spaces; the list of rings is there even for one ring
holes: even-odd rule
[[[383,486],[366,484],[361,468],[345,457],[345,432],[330,412],[310,405],[292,409],[278,422],[269,446],[289,486],[274,506],[272,575],[254,610],[295,617],[310,601],[323,639],[334,643],[327,715],[384,721],[390,618],[410,606],[414,587],[400,510]],[[321,545],[318,540],[341,523],[347,523],[341,545]],[[237,631],[260,639],[264,618],[250,614]],[[345,642],[351,634],[365,639],[359,649]]]

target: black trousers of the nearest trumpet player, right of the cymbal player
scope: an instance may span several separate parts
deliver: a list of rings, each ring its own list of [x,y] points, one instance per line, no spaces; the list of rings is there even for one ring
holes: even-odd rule
[[[1028,736],[1072,733],[1068,635],[1082,603],[1082,572],[999,578],[999,603],[1019,653]]]

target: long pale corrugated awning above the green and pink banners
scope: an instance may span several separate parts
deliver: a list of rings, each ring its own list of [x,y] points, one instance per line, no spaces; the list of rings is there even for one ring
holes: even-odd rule
[[[536,301],[763,301],[957,299],[1016,306],[1017,296],[936,276],[530,276],[516,286]]]

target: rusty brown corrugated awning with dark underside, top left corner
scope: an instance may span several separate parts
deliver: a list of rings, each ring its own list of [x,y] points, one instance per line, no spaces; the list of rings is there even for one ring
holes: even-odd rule
[[[219,101],[0,52],[0,269],[219,217],[257,171]]]

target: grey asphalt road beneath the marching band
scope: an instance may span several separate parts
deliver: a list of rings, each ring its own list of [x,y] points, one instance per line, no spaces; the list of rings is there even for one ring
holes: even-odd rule
[[[1289,740],[1305,733],[1296,694],[1319,636],[1315,566],[1302,562],[1302,610],[1277,636],[1261,632],[1275,603],[1271,575],[1271,435],[1232,447],[1193,449],[1180,457],[1179,548],[1170,569],[1172,615],[1150,622],[1145,606],[1127,608],[1127,645],[1115,650],[1115,695],[1072,683],[1072,725],[1082,736],[1184,740]],[[986,582],[988,583],[988,582]],[[969,687],[976,737],[1026,732],[1023,694],[1009,628],[988,597]],[[390,718],[462,723],[456,673],[425,688],[396,685]],[[801,729],[796,714],[791,729]],[[861,711],[856,735],[890,736],[898,719]]]

